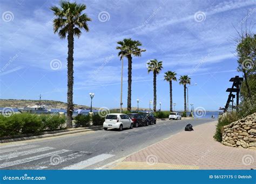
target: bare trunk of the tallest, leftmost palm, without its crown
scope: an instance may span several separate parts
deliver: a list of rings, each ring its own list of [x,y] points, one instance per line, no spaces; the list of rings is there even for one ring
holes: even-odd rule
[[[73,50],[74,50],[74,35],[73,31],[68,33],[68,104],[66,108],[67,122],[66,127],[72,128],[72,114],[73,114]]]

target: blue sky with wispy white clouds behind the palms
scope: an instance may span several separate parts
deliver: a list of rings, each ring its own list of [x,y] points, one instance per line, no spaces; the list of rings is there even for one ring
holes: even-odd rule
[[[133,57],[132,107],[149,107],[153,74],[149,59],[163,61],[157,76],[157,104],[169,109],[169,83],[164,72],[190,75],[189,103],[194,108],[218,110],[227,100],[228,80],[236,72],[233,25],[256,21],[256,1],[76,1],[85,3],[92,19],[89,32],[75,39],[73,101],[117,108],[120,103],[120,68],[117,41],[140,40],[147,51]],[[43,99],[66,102],[67,40],[52,31],[50,6],[58,1],[0,1],[0,98]],[[100,16],[102,15],[102,16]],[[104,17],[106,16],[106,17]],[[106,19],[104,19],[106,18]],[[255,27],[253,29],[255,32]],[[55,68],[56,67],[56,68]],[[127,105],[127,59],[124,59],[124,107]],[[173,82],[173,103],[182,110],[183,86]],[[159,108],[159,105],[158,105]]]

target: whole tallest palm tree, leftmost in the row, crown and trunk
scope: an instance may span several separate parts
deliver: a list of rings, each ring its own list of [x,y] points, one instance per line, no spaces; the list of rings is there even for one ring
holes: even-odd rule
[[[67,103],[67,128],[72,128],[73,114],[73,49],[74,36],[82,34],[82,29],[89,31],[87,21],[91,21],[85,13],[85,4],[77,4],[61,1],[60,7],[52,6],[50,8],[56,18],[53,20],[53,32],[59,34],[61,39],[65,39],[68,35],[68,103]]]

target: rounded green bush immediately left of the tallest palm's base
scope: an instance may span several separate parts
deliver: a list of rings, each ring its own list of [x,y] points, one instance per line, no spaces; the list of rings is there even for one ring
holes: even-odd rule
[[[56,130],[62,129],[62,125],[65,123],[65,118],[59,117],[59,115],[47,115],[42,116],[43,129]]]

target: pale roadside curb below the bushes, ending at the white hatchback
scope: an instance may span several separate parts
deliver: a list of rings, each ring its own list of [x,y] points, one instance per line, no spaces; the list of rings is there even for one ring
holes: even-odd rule
[[[53,131],[52,133],[47,132],[43,133],[43,135],[39,136],[30,136],[30,137],[19,137],[19,138],[12,138],[12,139],[3,139],[0,140],[0,143],[10,143],[14,141],[21,141],[21,140],[30,140],[30,139],[37,139],[37,138],[45,138],[45,137],[56,137],[56,136],[62,136],[62,135],[68,135],[72,133],[79,133],[79,132],[87,132],[91,130],[102,130],[102,126],[93,126],[92,128],[78,128],[79,130],[73,130],[73,129],[66,129],[65,131]]]

